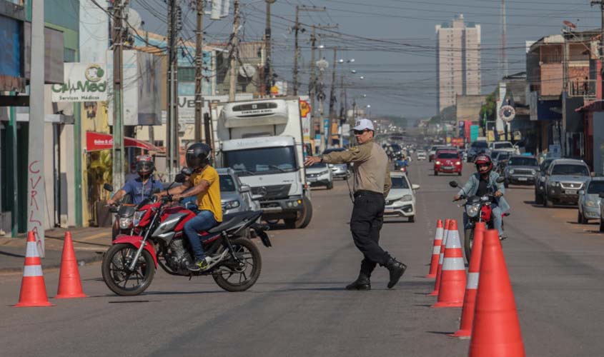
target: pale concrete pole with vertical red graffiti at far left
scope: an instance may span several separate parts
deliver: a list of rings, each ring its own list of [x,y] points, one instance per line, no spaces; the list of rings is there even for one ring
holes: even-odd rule
[[[31,73],[29,79],[29,155],[27,158],[27,231],[33,231],[44,258],[44,1],[31,4]],[[16,212],[14,212],[16,214]]]

